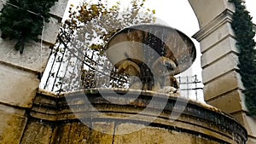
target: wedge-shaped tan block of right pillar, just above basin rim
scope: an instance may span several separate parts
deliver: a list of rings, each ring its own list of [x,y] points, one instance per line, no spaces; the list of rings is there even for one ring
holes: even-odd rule
[[[223,112],[233,113],[242,110],[241,102],[241,91],[233,90],[230,93],[218,96],[216,99],[207,101],[207,104],[217,107]]]

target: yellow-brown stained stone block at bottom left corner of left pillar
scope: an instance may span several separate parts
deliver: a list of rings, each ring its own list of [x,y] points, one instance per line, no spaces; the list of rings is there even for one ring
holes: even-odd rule
[[[26,126],[25,110],[0,105],[0,143],[19,144]]]

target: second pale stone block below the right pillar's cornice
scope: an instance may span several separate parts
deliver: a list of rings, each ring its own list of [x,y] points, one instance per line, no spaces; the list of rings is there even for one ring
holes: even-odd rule
[[[229,53],[238,54],[239,49],[236,48],[235,43],[236,40],[233,37],[226,37],[221,43],[212,46],[211,49],[205,51],[204,55],[201,56],[201,66],[211,65],[212,62]]]

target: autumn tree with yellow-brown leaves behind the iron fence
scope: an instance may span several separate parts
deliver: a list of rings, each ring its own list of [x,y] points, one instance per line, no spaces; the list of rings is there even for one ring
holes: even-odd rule
[[[78,7],[71,5],[69,16],[61,26],[59,35],[68,49],[64,58],[67,72],[62,78],[64,85],[62,89],[65,91],[83,89],[81,86],[92,88],[94,77],[89,74],[95,70],[101,71],[96,74],[101,79],[99,82],[102,83],[101,86],[108,87],[108,83],[102,80],[102,77],[111,70],[104,54],[104,45],[122,28],[154,23],[155,11],[146,9],[144,3],[145,0],[122,1],[122,3],[113,0],[88,0]],[[84,85],[79,83],[81,80]]]

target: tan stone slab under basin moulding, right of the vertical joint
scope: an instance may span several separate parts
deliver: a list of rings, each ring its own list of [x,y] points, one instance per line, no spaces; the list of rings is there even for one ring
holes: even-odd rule
[[[120,124],[117,126],[116,132],[119,130],[132,129],[133,127],[139,127],[135,124]],[[218,141],[209,141],[201,136],[189,135],[183,132],[177,132],[175,130],[165,130],[154,127],[146,127],[143,130],[135,131],[126,135],[115,135],[113,142],[115,144],[217,144]]]

